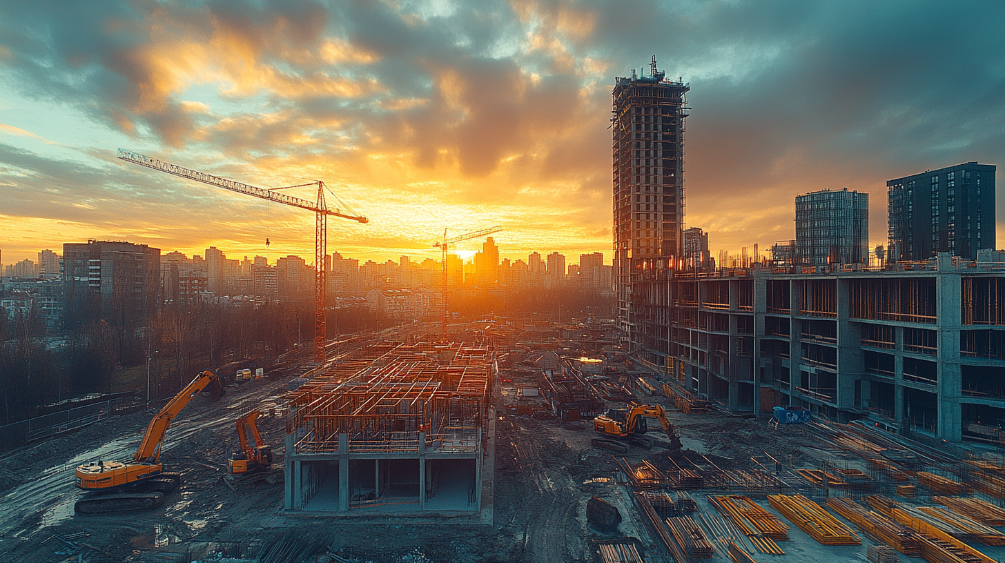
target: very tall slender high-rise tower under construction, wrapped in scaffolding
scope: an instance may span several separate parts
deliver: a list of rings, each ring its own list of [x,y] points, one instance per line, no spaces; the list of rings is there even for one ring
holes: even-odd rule
[[[617,77],[613,96],[614,288],[622,338],[658,366],[668,353],[666,300],[654,283],[682,255],[685,93],[652,57],[648,76]]]

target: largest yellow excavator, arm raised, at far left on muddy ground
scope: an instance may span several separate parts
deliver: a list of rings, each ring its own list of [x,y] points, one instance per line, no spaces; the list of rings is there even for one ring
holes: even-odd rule
[[[168,426],[196,395],[210,388],[210,400],[223,396],[220,380],[211,371],[199,374],[164,405],[147,425],[140,448],[128,462],[103,461],[77,465],[76,488],[87,494],[76,502],[78,514],[147,510],[161,506],[164,495],[178,488],[181,474],[164,472],[161,446]]]

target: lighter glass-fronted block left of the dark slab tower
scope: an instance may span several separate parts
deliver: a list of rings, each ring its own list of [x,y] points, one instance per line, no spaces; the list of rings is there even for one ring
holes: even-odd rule
[[[865,264],[869,256],[869,194],[821,190],[796,196],[796,263]]]

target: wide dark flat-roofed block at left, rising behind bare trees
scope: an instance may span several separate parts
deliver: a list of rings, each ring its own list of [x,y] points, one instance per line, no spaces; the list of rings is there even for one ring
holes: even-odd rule
[[[160,248],[108,240],[64,243],[64,323],[144,326],[157,308],[160,274]]]

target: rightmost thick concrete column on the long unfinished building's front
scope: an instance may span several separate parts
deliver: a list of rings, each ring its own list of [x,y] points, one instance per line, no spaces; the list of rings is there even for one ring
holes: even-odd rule
[[[936,304],[939,331],[939,427],[937,435],[945,440],[963,439],[963,409],[960,395],[963,369],[960,365],[960,329],[963,279],[956,271],[943,272],[940,256],[936,277]],[[952,265],[952,261],[949,261]]]

